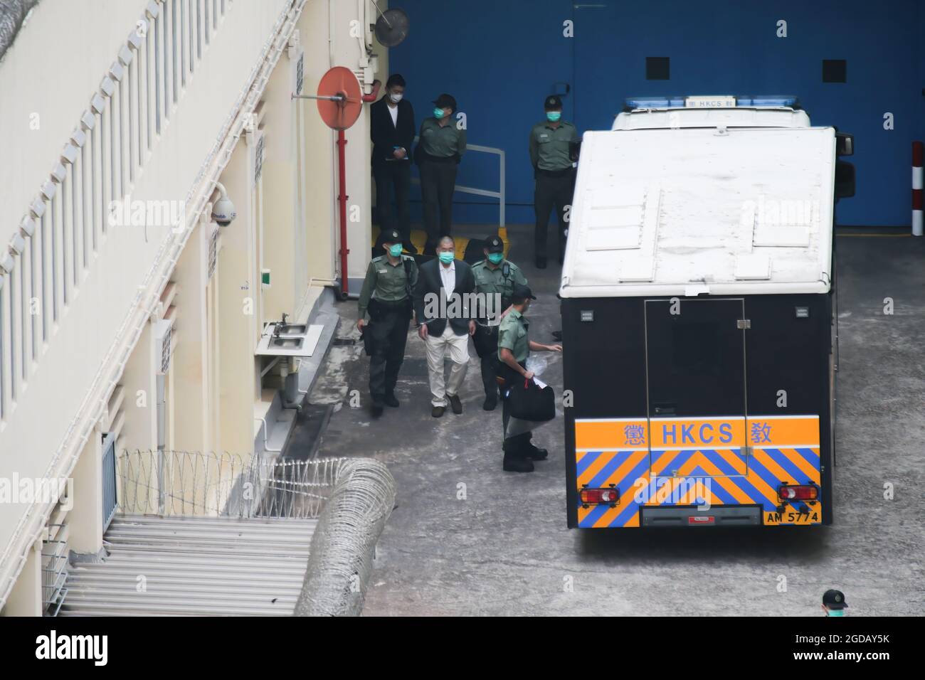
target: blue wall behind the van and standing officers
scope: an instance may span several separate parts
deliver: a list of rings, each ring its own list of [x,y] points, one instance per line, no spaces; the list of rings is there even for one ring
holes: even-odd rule
[[[396,4],[398,5],[398,4]],[[814,125],[855,134],[857,195],[845,225],[909,224],[911,142],[925,134],[925,3],[920,0],[401,0],[412,31],[391,49],[418,125],[438,93],[466,114],[470,143],[508,155],[508,222],[533,216],[531,126],[564,91],[579,130],[611,126],[635,94],[796,94]],[[574,21],[574,38],[562,23]],[[776,37],[777,21],[787,37]],[[670,56],[671,80],[646,80],[646,56]],[[847,82],[823,83],[822,59],[846,59]],[[883,130],[883,114],[894,130]],[[467,155],[458,182],[498,184],[495,156]],[[457,193],[458,222],[497,221],[497,202]],[[478,205],[484,203],[485,205]]]

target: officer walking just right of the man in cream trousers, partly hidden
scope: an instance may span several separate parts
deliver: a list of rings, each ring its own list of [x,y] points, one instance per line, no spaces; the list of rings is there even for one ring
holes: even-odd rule
[[[498,358],[498,325],[501,313],[511,306],[514,286],[525,286],[526,278],[520,267],[504,259],[504,241],[492,236],[486,241],[485,259],[472,266],[475,292],[485,300],[486,312],[475,319],[475,352],[482,362],[482,384],[485,403],[482,408],[494,411],[498,405],[498,380],[495,363]],[[489,302],[490,300],[490,302]]]

